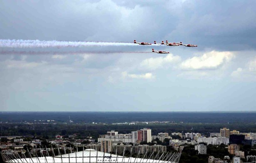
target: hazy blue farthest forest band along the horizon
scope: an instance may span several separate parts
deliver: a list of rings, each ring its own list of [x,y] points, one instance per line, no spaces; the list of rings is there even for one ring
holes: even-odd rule
[[[256,123],[256,112],[0,112],[0,121],[55,120],[74,123],[173,121],[184,123]]]

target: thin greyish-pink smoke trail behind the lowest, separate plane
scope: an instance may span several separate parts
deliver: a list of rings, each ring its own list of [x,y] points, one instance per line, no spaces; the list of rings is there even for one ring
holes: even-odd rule
[[[14,54],[14,55],[45,55],[45,54],[58,54],[58,55],[79,55],[79,54],[113,54],[113,53],[152,53],[152,52],[124,52],[124,51],[109,51],[109,52],[95,52],[95,51],[14,51],[14,50],[2,50],[0,55]]]

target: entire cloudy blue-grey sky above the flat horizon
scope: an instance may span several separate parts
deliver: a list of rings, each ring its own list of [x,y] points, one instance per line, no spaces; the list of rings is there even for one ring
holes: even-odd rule
[[[255,6],[255,0],[1,0],[0,111],[256,111]],[[50,43],[8,47],[8,40]],[[99,46],[58,47],[53,40]]]

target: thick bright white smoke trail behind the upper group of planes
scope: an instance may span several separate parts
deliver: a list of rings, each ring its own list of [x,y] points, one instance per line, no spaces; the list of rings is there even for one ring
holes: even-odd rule
[[[87,46],[137,46],[127,42],[81,42],[81,41],[40,41],[40,40],[0,40],[0,47],[87,47]],[[154,45],[154,44],[153,44]]]

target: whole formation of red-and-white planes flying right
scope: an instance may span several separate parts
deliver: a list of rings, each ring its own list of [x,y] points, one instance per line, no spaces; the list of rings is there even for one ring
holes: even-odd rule
[[[139,45],[152,45],[151,43],[148,42],[137,42],[136,40],[134,40],[134,44],[139,44]],[[166,42],[164,43],[164,41],[162,41],[161,43],[157,43],[156,41],[154,41],[154,44],[162,44],[162,45],[167,45],[167,46],[180,46],[183,45],[185,47],[197,47],[197,45],[194,44],[183,44],[182,42],[168,42],[166,40]],[[155,53],[160,53],[160,54],[167,54],[169,52],[165,52],[165,51],[155,51],[154,49],[152,49],[152,52]]]

